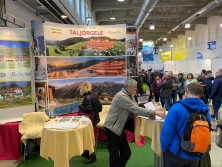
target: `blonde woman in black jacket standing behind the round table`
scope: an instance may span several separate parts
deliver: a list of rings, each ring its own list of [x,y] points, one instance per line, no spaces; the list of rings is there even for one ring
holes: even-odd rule
[[[89,82],[83,82],[80,88],[80,95],[83,96],[83,102],[79,105],[81,112],[91,114],[91,121],[93,127],[99,123],[99,112],[102,111],[102,104],[95,94],[92,94],[92,86]],[[89,155],[89,151],[85,150],[82,154],[83,157],[87,158],[85,164],[90,164],[96,161],[96,153]]]

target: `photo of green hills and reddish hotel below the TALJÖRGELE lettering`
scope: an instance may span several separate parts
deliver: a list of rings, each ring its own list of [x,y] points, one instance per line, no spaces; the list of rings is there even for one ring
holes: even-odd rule
[[[45,40],[46,56],[119,56],[125,55],[125,38],[73,37],[65,40]]]

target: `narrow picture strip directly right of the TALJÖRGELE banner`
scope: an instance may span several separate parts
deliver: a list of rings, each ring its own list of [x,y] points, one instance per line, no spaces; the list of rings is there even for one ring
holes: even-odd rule
[[[137,55],[137,28],[126,27],[126,55]]]

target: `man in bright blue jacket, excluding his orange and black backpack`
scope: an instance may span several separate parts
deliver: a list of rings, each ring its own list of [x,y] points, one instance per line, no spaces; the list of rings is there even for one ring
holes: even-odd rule
[[[178,155],[180,148],[178,136],[181,137],[184,134],[186,120],[189,117],[189,112],[182,104],[189,106],[198,113],[208,111],[207,105],[199,98],[202,92],[203,88],[199,83],[190,83],[185,91],[185,99],[180,100],[180,103],[176,103],[170,108],[160,136],[164,167],[198,166],[199,156],[188,155],[182,149]],[[210,113],[207,114],[207,119],[209,122],[211,121]]]

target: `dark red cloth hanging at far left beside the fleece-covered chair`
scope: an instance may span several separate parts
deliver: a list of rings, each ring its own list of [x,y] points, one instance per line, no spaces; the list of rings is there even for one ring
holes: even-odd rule
[[[21,134],[20,122],[0,125],[0,160],[15,160],[22,156],[19,151]]]

